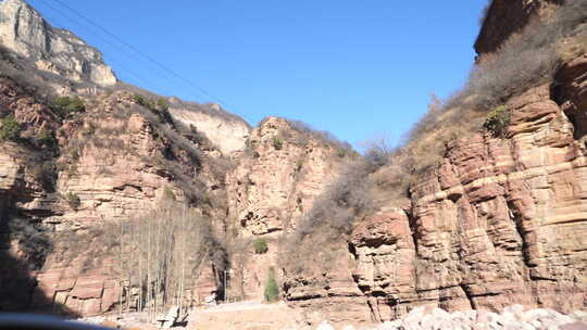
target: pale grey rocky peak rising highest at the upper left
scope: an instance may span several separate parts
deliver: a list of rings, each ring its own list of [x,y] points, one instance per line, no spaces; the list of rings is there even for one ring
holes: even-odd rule
[[[22,0],[0,3],[0,42],[34,61],[40,71],[102,87],[116,84],[114,73],[97,49],[71,31],[51,27]]]

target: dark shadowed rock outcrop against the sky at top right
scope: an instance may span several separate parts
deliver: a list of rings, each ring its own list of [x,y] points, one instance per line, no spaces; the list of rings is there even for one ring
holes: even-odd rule
[[[491,0],[475,41],[475,51],[492,53],[532,20],[547,20],[563,0]]]

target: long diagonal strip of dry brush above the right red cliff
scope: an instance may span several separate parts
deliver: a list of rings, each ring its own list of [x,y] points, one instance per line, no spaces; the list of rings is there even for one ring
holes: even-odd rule
[[[365,162],[345,170],[286,240],[282,265],[294,275],[312,267],[325,270],[339,248],[335,242],[349,234],[354,221],[378,208],[375,198],[379,192],[398,202],[410,198],[411,187],[439,164],[451,140],[483,131],[491,110],[524,90],[551,82],[562,64],[562,41],[585,36],[586,17],[587,1],[574,0],[552,21],[532,23],[497,53],[483,59],[454,97],[446,102],[433,98],[428,112],[399,148],[371,148]],[[577,49],[580,46],[572,51]],[[502,129],[499,127],[500,132]]]

